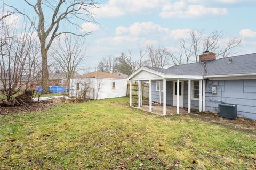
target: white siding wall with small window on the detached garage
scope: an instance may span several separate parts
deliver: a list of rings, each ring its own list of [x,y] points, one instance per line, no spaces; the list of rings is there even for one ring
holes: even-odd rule
[[[96,86],[100,79],[95,82]],[[112,83],[115,82],[115,89],[112,89]],[[97,86],[98,88],[98,86]],[[102,79],[101,87],[99,89],[98,100],[105,98],[115,98],[126,96],[127,80],[126,79]]]

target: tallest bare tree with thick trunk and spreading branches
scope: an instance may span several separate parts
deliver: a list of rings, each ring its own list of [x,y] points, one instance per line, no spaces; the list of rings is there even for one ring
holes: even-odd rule
[[[49,84],[49,71],[47,63],[47,53],[52,45],[53,40],[62,34],[72,34],[76,36],[85,37],[91,32],[84,34],[78,34],[73,31],[59,31],[60,24],[63,22],[70,23],[76,28],[81,28],[78,25],[77,20],[83,22],[95,22],[93,14],[90,12],[91,8],[98,7],[94,0],[59,0],[59,1],[42,1],[37,0],[35,4],[23,0],[29,7],[31,7],[36,17],[33,18],[30,14],[21,12],[18,8],[12,7],[19,14],[26,16],[34,29],[37,31],[41,46],[41,62],[42,62],[42,86],[44,90],[47,90]],[[48,21],[45,19],[50,18]]]

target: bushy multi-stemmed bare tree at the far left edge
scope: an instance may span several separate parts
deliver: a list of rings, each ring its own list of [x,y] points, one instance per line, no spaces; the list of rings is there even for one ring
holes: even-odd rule
[[[27,23],[23,23],[18,33],[16,23],[9,23],[9,18],[0,22],[0,81],[3,84],[2,94],[12,103],[13,95],[21,89],[26,92],[39,79],[36,70],[40,70],[40,67],[33,27],[26,28]]]

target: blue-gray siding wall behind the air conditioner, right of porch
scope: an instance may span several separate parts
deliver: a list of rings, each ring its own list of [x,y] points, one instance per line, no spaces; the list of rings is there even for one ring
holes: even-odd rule
[[[212,94],[212,87],[217,94]],[[256,119],[256,80],[206,80],[205,109],[218,112],[222,102],[237,105],[237,116]]]

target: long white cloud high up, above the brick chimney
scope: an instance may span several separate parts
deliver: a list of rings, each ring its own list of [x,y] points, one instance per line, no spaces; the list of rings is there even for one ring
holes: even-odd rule
[[[166,3],[159,14],[162,18],[193,18],[204,15],[226,15],[227,8],[204,7],[203,5],[188,5],[181,0],[175,3]]]

